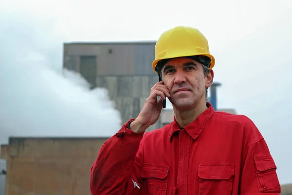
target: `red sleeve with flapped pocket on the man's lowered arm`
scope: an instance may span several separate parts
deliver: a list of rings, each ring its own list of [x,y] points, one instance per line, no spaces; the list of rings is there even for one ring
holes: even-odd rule
[[[260,135],[255,125],[253,132]],[[252,139],[251,139],[252,140]],[[255,139],[253,139],[255,140]],[[265,139],[251,142],[241,159],[241,178],[238,195],[280,195],[281,187],[276,173],[276,165]]]

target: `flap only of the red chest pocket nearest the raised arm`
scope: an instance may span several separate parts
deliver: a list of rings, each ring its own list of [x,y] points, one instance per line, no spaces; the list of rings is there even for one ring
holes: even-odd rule
[[[141,171],[141,177],[164,179],[166,178],[168,171],[169,168],[164,166],[144,164]]]

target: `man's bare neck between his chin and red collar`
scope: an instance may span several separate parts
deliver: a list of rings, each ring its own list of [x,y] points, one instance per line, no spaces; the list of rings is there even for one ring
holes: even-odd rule
[[[207,105],[205,100],[196,106],[193,106],[187,110],[177,110],[173,108],[175,119],[181,128],[193,122],[197,117],[199,117],[206,109]]]

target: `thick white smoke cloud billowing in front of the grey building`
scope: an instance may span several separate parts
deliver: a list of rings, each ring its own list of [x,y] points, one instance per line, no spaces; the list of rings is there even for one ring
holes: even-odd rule
[[[0,16],[0,144],[8,137],[110,137],[121,125],[106,89],[62,70],[54,20]],[[21,22],[20,22],[21,21]]]

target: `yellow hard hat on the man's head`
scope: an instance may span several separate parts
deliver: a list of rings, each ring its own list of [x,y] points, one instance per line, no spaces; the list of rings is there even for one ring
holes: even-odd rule
[[[157,73],[155,68],[160,60],[188,56],[206,56],[211,59],[209,69],[215,65],[205,36],[196,28],[177,26],[165,31],[157,40],[152,68]]]

